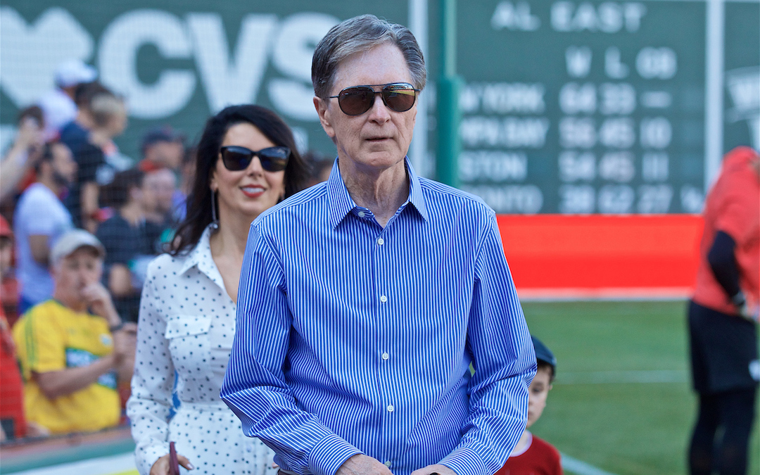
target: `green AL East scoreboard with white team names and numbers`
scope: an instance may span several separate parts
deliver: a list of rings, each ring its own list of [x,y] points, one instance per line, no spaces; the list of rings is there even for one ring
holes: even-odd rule
[[[461,187],[497,213],[698,213],[758,148],[758,2],[460,2]]]

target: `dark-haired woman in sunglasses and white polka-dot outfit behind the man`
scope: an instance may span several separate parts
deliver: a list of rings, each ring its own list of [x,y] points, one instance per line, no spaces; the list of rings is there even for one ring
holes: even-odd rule
[[[143,475],[179,464],[198,473],[274,470],[274,452],[242,433],[219,391],[235,333],[240,268],[259,214],[309,178],[293,133],[274,112],[230,106],[206,123],[195,179],[169,254],[143,288],[132,395],[127,405]],[[179,408],[169,420],[175,385]]]

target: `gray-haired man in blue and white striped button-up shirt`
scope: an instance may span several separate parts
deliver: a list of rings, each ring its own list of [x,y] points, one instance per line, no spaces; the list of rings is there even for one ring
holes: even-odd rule
[[[425,78],[407,28],[330,30],[336,166],[252,224],[222,397],[285,473],[489,475],[525,427],[536,357],[496,217],[406,158]]]

